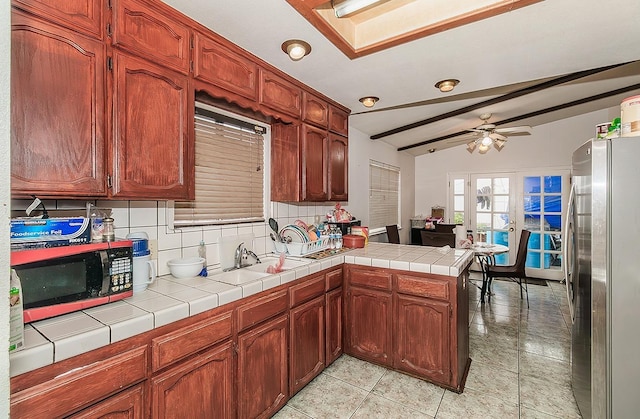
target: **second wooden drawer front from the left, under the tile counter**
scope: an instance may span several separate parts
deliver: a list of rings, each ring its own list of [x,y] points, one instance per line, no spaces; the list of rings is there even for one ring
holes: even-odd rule
[[[151,341],[151,366],[157,371],[231,337],[231,312],[206,319]]]

